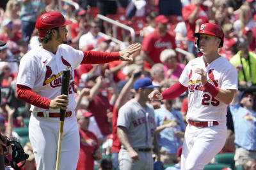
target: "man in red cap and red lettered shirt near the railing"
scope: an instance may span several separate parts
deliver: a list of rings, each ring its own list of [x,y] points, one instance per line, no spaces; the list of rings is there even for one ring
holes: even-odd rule
[[[154,64],[161,62],[160,53],[167,48],[175,49],[175,36],[167,32],[168,19],[159,15],[155,19],[156,30],[142,41],[141,56],[145,59],[145,69],[150,69]]]

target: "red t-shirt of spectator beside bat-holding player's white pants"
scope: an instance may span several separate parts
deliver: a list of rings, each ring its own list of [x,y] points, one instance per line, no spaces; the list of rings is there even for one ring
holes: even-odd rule
[[[79,129],[80,135],[80,152],[77,162],[77,170],[93,170],[94,159],[93,152],[99,148],[99,142],[95,134],[90,131]]]

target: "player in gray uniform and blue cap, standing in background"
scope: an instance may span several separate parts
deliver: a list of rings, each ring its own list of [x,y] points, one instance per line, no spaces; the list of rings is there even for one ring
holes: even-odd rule
[[[152,85],[149,78],[140,78],[133,87],[136,90],[134,99],[118,111],[117,136],[122,143],[119,167],[122,170],[150,170],[154,169],[151,150],[157,154],[158,147],[154,139],[154,108],[147,103],[147,96],[157,86]]]

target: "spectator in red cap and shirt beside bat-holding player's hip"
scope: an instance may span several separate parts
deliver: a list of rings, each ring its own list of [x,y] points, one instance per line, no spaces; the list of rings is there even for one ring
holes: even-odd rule
[[[88,131],[89,118],[92,113],[86,110],[77,111],[77,123],[80,135],[80,151],[77,163],[77,170],[93,170],[94,160],[101,159],[99,142],[93,132]]]

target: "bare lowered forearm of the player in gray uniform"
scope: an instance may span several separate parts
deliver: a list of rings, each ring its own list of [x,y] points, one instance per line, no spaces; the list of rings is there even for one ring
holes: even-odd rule
[[[137,160],[140,160],[138,153],[132,148],[132,146],[129,142],[129,139],[127,137],[126,127],[118,126],[117,127],[117,136],[120,139],[120,142],[122,143],[122,145],[129,152],[132,162],[136,162]]]

